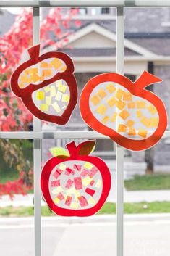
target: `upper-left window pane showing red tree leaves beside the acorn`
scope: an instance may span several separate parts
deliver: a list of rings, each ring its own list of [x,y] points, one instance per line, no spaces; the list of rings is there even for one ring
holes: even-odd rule
[[[33,116],[12,93],[10,78],[32,44],[31,9],[1,9],[0,22],[0,131],[30,131]]]

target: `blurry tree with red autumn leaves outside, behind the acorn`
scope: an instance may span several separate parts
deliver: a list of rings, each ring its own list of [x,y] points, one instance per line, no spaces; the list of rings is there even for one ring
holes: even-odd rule
[[[41,47],[54,45],[61,48],[59,39],[67,41],[70,22],[76,26],[80,21],[72,17],[78,9],[52,8],[41,23]],[[0,38],[0,131],[28,131],[28,125],[33,116],[27,111],[20,99],[17,99],[10,89],[9,81],[14,67],[21,61],[25,49],[32,46],[33,12],[32,9],[22,9],[14,21],[12,28]],[[54,39],[51,39],[54,38]],[[1,141],[0,148],[4,152],[4,160],[14,165],[20,173],[17,181],[0,183],[0,196],[14,193],[24,194],[32,186],[33,166],[25,160],[20,147],[12,141]]]

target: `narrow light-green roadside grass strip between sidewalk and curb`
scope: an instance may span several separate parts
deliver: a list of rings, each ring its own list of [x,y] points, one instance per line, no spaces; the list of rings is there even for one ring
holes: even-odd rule
[[[41,208],[43,216],[54,216],[54,213],[48,207]],[[140,202],[140,203],[124,203],[124,213],[168,213],[170,212],[170,202]],[[98,214],[115,214],[116,204],[106,202]],[[33,207],[3,207],[0,208],[0,216],[23,217],[33,216]]]

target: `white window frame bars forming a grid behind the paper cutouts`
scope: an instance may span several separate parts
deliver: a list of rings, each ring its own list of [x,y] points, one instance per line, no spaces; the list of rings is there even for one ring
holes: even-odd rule
[[[0,7],[33,8],[33,44],[40,43],[40,7],[103,7],[103,0],[15,0],[0,1]],[[170,0],[106,0],[104,7],[116,7],[116,72],[124,73],[124,7],[170,7]],[[0,132],[0,139],[34,140],[34,226],[35,256],[41,256],[41,141],[42,139],[109,139],[95,131],[41,131],[41,120],[33,118],[33,131]],[[170,138],[166,131],[163,138]],[[124,149],[116,146],[116,256],[124,255]]]

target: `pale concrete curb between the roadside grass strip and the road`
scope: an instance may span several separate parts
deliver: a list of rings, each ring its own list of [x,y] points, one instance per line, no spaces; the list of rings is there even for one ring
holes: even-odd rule
[[[124,214],[124,222],[150,222],[156,223],[169,222],[170,213],[137,213],[137,214]],[[50,216],[41,217],[42,226],[55,227],[55,226],[69,226],[72,224],[94,224],[94,223],[116,223],[115,214],[93,215],[90,217],[62,217]],[[0,229],[4,226],[33,226],[34,217],[2,217],[0,218]]]

